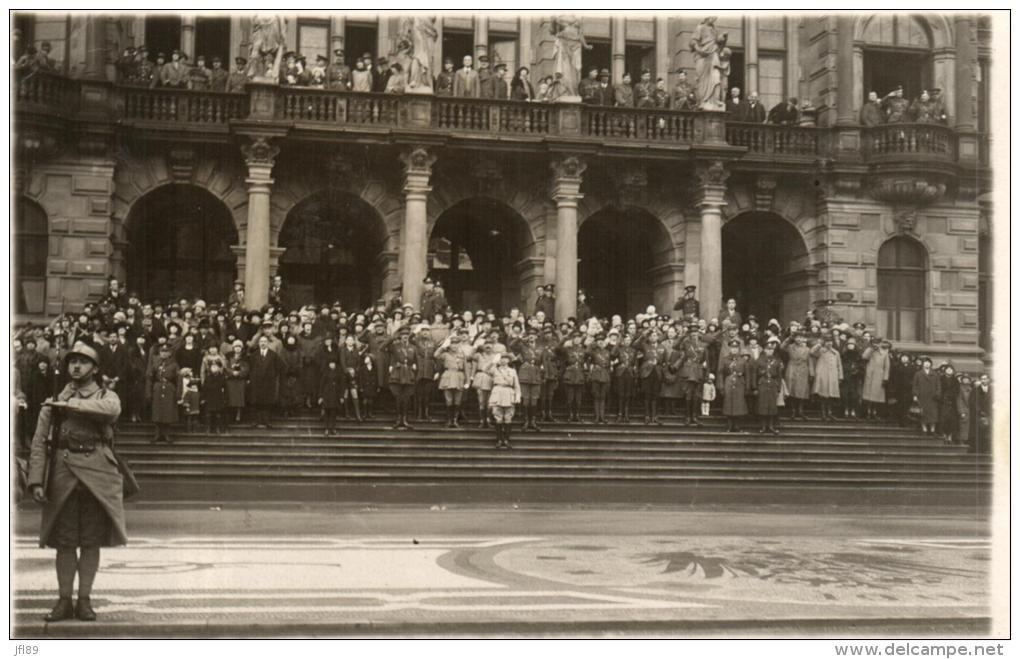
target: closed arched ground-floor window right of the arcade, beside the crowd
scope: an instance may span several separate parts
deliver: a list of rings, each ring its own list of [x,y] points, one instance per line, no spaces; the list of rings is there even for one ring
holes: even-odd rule
[[[899,237],[878,250],[878,333],[892,341],[924,340],[927,255],[917,241]]]

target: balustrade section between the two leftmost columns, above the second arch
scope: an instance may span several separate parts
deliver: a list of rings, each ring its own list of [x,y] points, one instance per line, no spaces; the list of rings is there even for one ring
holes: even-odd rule
[[[365,94],[280,88],[277,96],[279,117],[294,121],[397,125],[400,97],[394,94]]]

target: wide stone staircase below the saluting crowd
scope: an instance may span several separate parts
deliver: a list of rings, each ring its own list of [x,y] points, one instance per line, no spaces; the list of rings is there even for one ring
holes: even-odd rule
[[[685,427],[547,423],[513,450],[492,430],[442,421],[394,430],[381,417],[341,421],[323,437],[309,413],[269,429],[233,424],[228,435],[172,435],[151,444],[147,423],[121,424],[117,446],[145,501],[337,501],[450,503],[882,503],[980,505],[991,460],[914,428],[862,421],[787,421],[759,435],[723,419]]]

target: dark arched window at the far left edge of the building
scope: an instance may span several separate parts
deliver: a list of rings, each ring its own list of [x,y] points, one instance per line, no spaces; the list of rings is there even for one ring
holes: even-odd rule
[[[14,288],[18,313],[46,311],[46,257],[50,252],[46,211],[21,198],[14,215]]]

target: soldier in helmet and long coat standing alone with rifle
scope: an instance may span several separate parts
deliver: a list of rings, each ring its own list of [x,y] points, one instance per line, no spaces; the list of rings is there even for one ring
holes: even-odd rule
[[[43,504],[39,546],[57,550],[59,599],[47,622],[95,620],[92,586],[100,547],[128,542],[123,478],[112,446],[120,400],[100,387],[99,354],[92,346],[75,343],[63,369],[70,382],[44,401],[29,462],[29,491]]]

